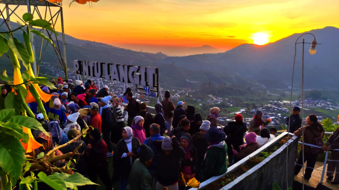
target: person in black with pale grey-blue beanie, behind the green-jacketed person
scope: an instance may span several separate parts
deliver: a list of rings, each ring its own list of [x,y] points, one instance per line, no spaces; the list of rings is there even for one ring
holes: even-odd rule
[[[207,148],[209,146],[209,144],[205,140],[205,133],[210,129],[210,125],[211,125],[210,121],[207,120],[202,121],[202,124],[199,128],[200,132],[192,136],[193,146],[197,149],[197,164],[194,167],[196,171],[195,178],[197,180],[200,180],[201,165],[207,152]]]

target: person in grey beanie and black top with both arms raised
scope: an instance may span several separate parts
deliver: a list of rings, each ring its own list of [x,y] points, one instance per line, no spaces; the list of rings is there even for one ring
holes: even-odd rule
[[[180,146],[175,136],[172,139],[165,137],[162,141],[153,141],[153,146],[159,152],[156,189],[164,187],[168,190],[178,189],[181,160],[186,155],[184,148]]]

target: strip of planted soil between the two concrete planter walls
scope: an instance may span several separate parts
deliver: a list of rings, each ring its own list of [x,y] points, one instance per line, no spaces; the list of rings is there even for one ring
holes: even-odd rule
[[[239,166],[236,170],[233,172],[225,175],[224,177],[218,179],[217,181],[214,181],[212,184],[208,185],[205,189],[206,190],[219,190],[223,186],[227,185],[228,183],[232,182],[233,180],[237,179],[239,176],[246,173],[248,170],[262,162],[266,159],[269,155],[271,155],[274,151],[279,149],[281,147],[281,144],[278,142],[268,148],[265,152],[260,152],[259,155],[251,157],[247,163],[244,166]]]

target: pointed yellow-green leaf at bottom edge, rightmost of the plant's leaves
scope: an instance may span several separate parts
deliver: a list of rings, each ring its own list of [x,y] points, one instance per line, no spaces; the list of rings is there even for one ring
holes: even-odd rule
[[[53,173],[50,176],[53,175],[59,176],[66,183],[66,186],[69,188],[74,188],[76,186],[83,185],[97,185],[77,172],[74,172],[72,175],[66,173]]]

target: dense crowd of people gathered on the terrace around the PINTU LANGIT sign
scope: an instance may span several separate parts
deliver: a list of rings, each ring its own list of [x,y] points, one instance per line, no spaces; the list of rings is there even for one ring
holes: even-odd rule
[[[131,88],[127,88],[123,97],[109,93],[108,86],[97,90],[95,84],[88,80],[68,80],[67,83],[58,79],[51,81],[57,89],[42,87],[45,93],[53,94],[45,106],[52,107],[67,115],[66,122],[55,119],[46,121],[43,114],[36,115],[50,137],[41,131],[32,130],[37,142],[42,144],[38,152],[47,153],[56,145],[62,145],[78,136],[89,127],[87,134],[77,141],[56,151],[57,155],[78,150],[83,155],[75,164],[76,172],[96,182],[99,177],[106,189],[119,182],[119,189],[155,189],[162,190],[185,188],[185,181],[196,178],[203,182],[213,176],[226,173],[227,167],[244,159],[260,147],[275,138],[277,129],[267,129],[270,120],[262,119],[263,112],[256,110],[250,120],[248,131],[243,116],[237,114],[234,121],[224,128],[218,125],[220,109],[213,107],[206,120],[195,113],[195,108],[185,102],[170,101],[171,94],[165,92],[165,100],[155,104],[154,116],[147,112],[146,103],[139,103],[133,98]],[[2,89],[5,98],[8,89]],[[1,104],[0,104],[1,105]],[[0,109],[3,109],[0,107]],[[294,107],[293,113],[286,119],[290,126],[289,132],[300,137],[304,134],[304,142],[314,144],[324,137],[324,129],[315,115],[308,115],[306,125],[301,127],[300,108]],[[128,119],[125,120],[125,114]],[[245,142],[244,142],[245,136]],[[227,137],[227,138],[226,138]],[[336,130],[321,150],[339,148],[339,132]],[[301,147],[301,150],[302,147]],[[338,151],[332,151],[330,160],[339,160]],[[304,154],[299,154],[295,166],[295,175],[302,168],[302,156],[307,162],[305,180],[309,180],[317,156],[321,151],[304,146]],[[113,176],[109,175],[108,157],[113,156]],[[226,160],[228,158],[228,165]],[[71,160],[74,162],[73,160]],[[68,161],[58,161],[62,166]],[[329,162],[327,180],[333,185],[339,184],[339,175],[333,172],[338,162]],[[184,176],[184,177],[181,177]],[[183,180],[185,179],[185,181]],[[90,189],[82,186],[79,189]],[[96,189],[96,185],[91,185]]]

